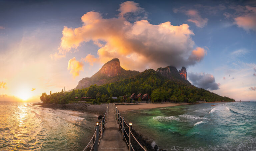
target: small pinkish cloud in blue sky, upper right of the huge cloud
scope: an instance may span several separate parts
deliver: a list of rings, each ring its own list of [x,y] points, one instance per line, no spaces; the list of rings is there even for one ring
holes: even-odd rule
[[[208,18],[202,18],[199,15],[199,12],[197,10],[185,10],[183,8],[180,9],[174,9],[174,13],[182,12],[185,13],[190,19],[188,19],[188,22],[195,23],[197,27],[203,28],[205,25],[207,25]]]

